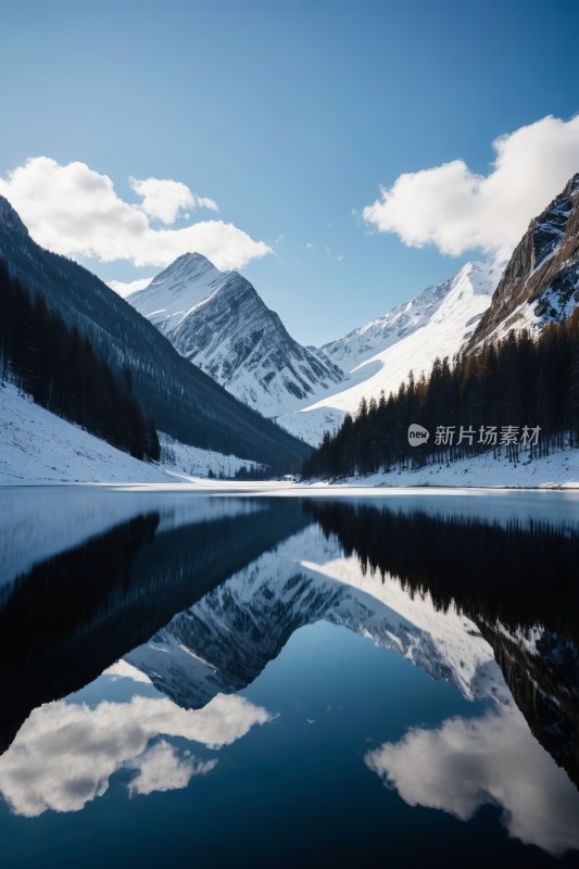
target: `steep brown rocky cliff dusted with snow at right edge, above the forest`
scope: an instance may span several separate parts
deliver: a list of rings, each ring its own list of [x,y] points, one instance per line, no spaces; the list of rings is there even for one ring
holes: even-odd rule
[[[579,173],[531,221],[503,273],[491,306],[465,345],[477,350],[511,329],[539,331],[579,304]]]

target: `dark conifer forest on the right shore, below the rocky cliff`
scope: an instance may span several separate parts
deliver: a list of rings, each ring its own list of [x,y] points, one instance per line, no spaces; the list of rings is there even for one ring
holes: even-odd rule
[[[429,432],[418,445],[408,427]],[[579,445],[579,310],[538,337],[514,331],[478,354],[411,371],[397,394],[362,400],[304,462],[305,477],[350,477],[446,464],[492,451],[513,462]]]

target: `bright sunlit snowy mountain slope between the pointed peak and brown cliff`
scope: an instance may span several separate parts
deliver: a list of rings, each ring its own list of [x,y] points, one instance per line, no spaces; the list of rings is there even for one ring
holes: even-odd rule
[[[357,411],[362,398],[397,391],[414,371],[428,374],[439,357],[452,357],[473,335],[488,308],[500,274],[483,263],[467,263],[454,277],[428,287],[390,314],[325,344],[322,350],[349,370],[332,394],[278,418],[288,431],[319,443],[326,429]]]

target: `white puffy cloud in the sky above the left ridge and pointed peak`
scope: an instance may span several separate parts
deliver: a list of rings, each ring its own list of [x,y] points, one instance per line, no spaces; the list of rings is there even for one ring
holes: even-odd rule
[[[66,256],[166,266],[184,253],[198,252],[217,268],[227,269],[240,268],[270,252],[263,241],[254,241],[224,221],[155,228],[152,217],[171,223],[185,206],[216,205],[196,198],[177,181],[149,178],[131,182],[140,186],[135,189],[142,197],[141,204],[125,202],[109,176],[85,163],[60,165],[40,156],[17,166],[7,179],[0,178],[0,193],[16,209],[35,241]],[[192,204],[186,202],[188,196]]]

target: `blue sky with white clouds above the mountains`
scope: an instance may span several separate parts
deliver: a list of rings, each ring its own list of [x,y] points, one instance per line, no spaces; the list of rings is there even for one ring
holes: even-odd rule
[[[0,15],[0,193],[33,237],[121,284],[199,250],[302,343],[504,262],[579,172],[576,0]]]

